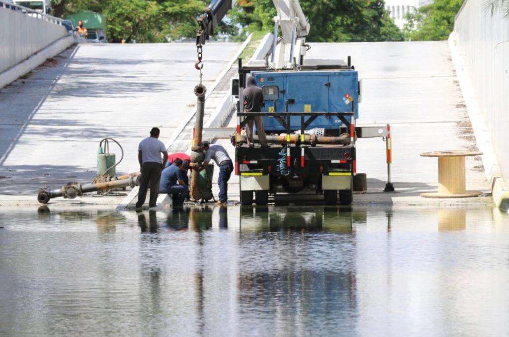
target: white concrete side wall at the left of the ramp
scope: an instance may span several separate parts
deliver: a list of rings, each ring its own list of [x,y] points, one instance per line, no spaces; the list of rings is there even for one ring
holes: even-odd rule
[[[0,73],[67,35],[64,26],[0,7]]]

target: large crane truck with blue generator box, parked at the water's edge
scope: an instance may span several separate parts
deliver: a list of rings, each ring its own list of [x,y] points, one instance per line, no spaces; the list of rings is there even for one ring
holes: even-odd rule
[[[387,130],[355,125],[361,83],[351,57],[347,62],[306,60],[310,24],[299,1],[273,3],[277,16],[270,54],[261,63],[247,66],[239,59],[238,76],[232,80],[232,95],[237,99],[232,143],[241,204],[266,205],[269,196],[276,194],[318,194],[325,204],[350,205],[357,178],[356,138],[387,136]],[[233,4],[215,0],[204,10],[198,19],[199,50]],[[262,88],[265,107],[261,112],[244,112],[247,76],[253,76]],[[263,118],[269,147],[245,144],[242,129],[257,115]]]

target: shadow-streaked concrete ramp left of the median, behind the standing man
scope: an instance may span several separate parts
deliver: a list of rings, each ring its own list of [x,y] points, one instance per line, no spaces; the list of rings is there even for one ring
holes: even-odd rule
[[[206,85],[239,47],[207,44]],[[105,137],[124,147],[117,172],[137,170],[138,142],[154,126],[161,129],[161,140],[171,138],[194,106],[195,59],[192,43],[85,44],[3,88],[0,194],[35,195],[45,185],[93,179],[97,147]]]

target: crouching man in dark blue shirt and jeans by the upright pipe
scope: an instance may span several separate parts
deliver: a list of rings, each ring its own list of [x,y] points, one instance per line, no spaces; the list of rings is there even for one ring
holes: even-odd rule
[[[184,178],[185,170],[182,160],[175,159],[173,164],[166,167],[161,173],[160,193],[172,195],[174,206],[182,206],[189,194],[189,187]]]

